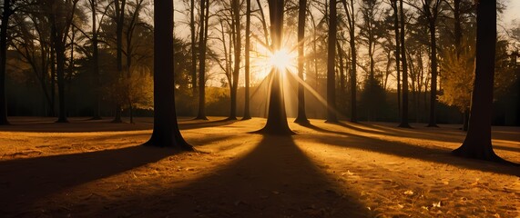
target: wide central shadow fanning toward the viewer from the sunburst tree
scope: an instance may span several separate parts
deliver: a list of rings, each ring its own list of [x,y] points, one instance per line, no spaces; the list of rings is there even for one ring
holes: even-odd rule
[[[291,137],[266,136],[241,159],[185,186],[165,185],[156,193],[91,205],[91,210],[93,217],[370,216],[354,195],[340,191]],[[104,205],[111,205],[110,211]]]

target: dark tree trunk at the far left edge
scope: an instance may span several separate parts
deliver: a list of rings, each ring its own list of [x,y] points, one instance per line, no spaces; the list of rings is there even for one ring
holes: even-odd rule
[[[5,64],[7,54],[7,25],[11,15],[11,0],[4,0],[2,25],[0,27],[0,125],[9,124],[7,120],[7,99],[5,92]]]

